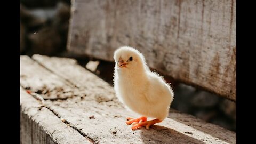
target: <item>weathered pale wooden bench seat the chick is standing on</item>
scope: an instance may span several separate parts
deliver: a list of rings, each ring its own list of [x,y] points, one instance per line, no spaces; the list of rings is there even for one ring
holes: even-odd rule
[[[131,131],[112,86],[74,59],[20,57],[21,143],[236,143],[236,133],[170,110],[150,130]],[[26,93],[40,94],[45,104]]]

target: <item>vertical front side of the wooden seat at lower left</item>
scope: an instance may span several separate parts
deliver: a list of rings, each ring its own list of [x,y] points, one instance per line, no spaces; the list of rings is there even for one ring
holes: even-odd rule
[[[25,90],[20,89],[21,143],[91,143],[52,111],[41,106]]]

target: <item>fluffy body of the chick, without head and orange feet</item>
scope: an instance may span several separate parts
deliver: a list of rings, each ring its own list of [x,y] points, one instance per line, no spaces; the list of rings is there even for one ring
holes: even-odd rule
[[[117,78],[115,89],[121,102],[134,112],[161,120],[167,117],[173,92],[156,74],[149,73],[143,81]]]

